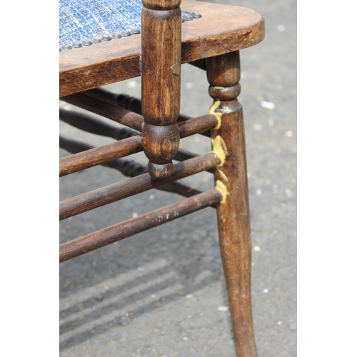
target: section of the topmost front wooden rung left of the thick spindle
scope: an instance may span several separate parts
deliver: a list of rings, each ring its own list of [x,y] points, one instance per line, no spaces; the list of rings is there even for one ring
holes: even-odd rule
[[[62,139],[62,146],[64,145],[64,140],[65,139]],[[66,141],[66,144],[67,147],[69,147],[71,145],[71,141]],[[129,139],[116,141],[112,144],[99,146],[98,148],[66,156],[59,160],[59,177],[73,174],[76,171],[88,169],[92,166],[104,164],[124,156],[135,154],[142,151],[142,149],[141,136],[133,136]]]

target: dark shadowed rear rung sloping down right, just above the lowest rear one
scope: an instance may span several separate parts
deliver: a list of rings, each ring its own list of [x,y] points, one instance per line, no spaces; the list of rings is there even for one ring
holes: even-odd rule
[[[107,136],[116,140],[131,138],[131,136],[140,135],[140,131],[129,128],[118,128],[114,125],[95,119],[88,114],[78,111],[67,111],[59,109],[59,119],[65,121],[71,126],[87,131],[92,134]]]

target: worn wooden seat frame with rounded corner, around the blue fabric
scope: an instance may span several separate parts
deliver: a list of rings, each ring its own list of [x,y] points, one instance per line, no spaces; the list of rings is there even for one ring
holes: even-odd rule
[[[136,1],[132,1],[132,4],[136,4]],[[201,18],[182,24],[181,63],[238,51],[258,44],[264,38],[263,16],[252,9],[195,0],[183,0],[181,9],[201,15]],[[126,23],[123,28],[127,26]],[[139,28],[134,22],[131,26]],[[106,31],[118,32],[119,29]],[[76,40],[83,41],[83,38],[73,39]],[[140,76],[140,56],[140,35],[122,36],[93,46],[61,51],[59,95],[67,96]]]

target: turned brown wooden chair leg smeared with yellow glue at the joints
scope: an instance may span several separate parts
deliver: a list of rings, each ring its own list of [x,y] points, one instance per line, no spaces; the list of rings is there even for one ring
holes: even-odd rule
[[[224,194],[217,207],[218,233],[236,351],[239,357],[255,357],[246,148],[243,111],[237,100],[239,52],[206,59],[206,71],[214,99],[211,113],[221,119],[211,138],[213,151],[222,159],[215,172],[216,188]]]

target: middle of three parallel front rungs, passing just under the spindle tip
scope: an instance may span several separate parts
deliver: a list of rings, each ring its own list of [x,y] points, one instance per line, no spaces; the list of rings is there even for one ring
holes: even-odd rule
[[[149,174],[136,176],[129,180],[114,183],[82,195],[69,198],[59,203],[59,219],[76,216],[76,214],[104,206],[133,196],[136,193],[148,191],[151,188],[164,185],[180,178],[197,174],[198,172],[213,169],[221,160],[213,152],[174,165],[174,171],[167,178],[153,178]]]

